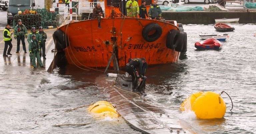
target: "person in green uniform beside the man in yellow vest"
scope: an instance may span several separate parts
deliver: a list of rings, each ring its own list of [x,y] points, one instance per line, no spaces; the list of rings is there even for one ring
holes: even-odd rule
[[[16,53],[19,53],[20,51],[20,40],[22,43],[22,48],[24,50],[24,53],[27,53],[26,51],[26,44],[25,44],[25,38],[28,38],[28,32],[27,28],[24,24],[22,24],[21,19],[18,20],[17,26],[14,27],[14,39],[17,39],[17,51]]]

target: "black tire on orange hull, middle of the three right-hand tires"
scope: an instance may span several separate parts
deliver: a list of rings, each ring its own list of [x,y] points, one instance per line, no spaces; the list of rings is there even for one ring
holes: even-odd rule
[[[179,36],[179,31],[174,29],[170,30],[166,38],[166,47],[169,49],[175,49],[178,45]]]

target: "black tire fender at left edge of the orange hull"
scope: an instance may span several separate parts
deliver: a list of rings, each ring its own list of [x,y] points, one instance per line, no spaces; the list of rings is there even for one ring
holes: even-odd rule
[[[53,39],[55,40],[55,45],[56,45],[56,49],[57,51],[62,51],[63,49],[65,49],[67,46],[69,46],[69,42],[67,40],[67,45],[66,45],[66,37],[63,31],[61,31],[60,29],[56,30],[53,33]],[[68,37],[67,37],[68,38]]]

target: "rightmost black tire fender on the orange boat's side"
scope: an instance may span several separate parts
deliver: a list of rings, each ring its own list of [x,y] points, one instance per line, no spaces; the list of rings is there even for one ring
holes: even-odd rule
[[[187,51],[187,33],[180,32],[180,37],[178,39],[178,45],[175,48],[177,52],[186,52]]]

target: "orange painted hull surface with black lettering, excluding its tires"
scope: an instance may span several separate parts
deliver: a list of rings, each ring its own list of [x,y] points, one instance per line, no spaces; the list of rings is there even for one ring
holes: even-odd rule
[[[157,23],[162,27],[162,35],[154,42],[147,42],[142,37],[143,28]],[[62,26],[69,39],[69,46],[64,49],[68,64],[86,67],[106,67],[112,55],[112,28],[116,28],[117,60],[124,67],[129,58],[146,58],[149,65],[176,62],[180,52],[166,47],[166,38],[170,30],[178,30],[173,24],[149,19],[114,18],[102,19],[102,29],[98,29],[96,19],[84,20]],[[110,67],[113,67],[111,63]]]

